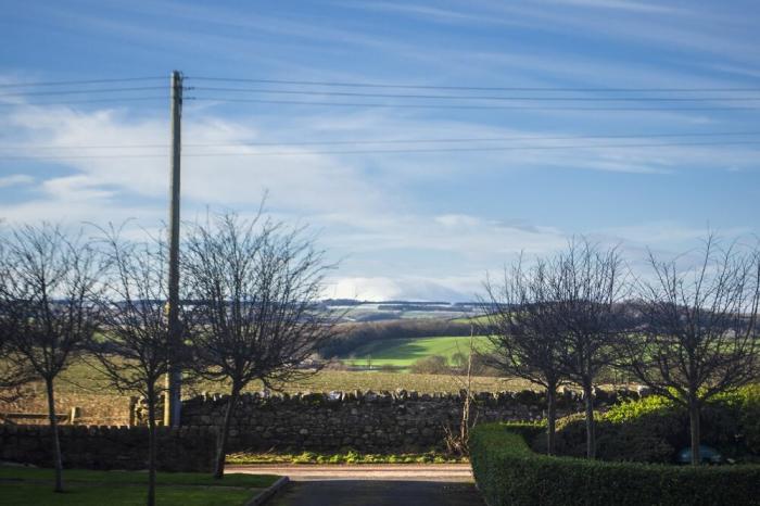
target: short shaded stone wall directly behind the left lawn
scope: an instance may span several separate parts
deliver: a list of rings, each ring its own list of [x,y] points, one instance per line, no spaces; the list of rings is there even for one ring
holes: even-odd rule
[[[59,429],[65,468],[148,467],[148,429],[144,427],[62,426]],[[51,467],[51,441],[47,426],[0,425],[0,460]],[[215,432],[210,429],[159,428],[159,468],[211,471],[215,441]]]

